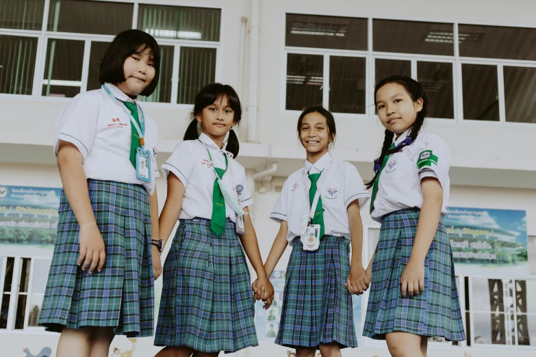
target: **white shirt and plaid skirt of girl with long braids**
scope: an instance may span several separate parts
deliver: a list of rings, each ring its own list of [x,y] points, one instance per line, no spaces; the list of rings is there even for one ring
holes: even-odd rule
[[[407,141],[408,135],[409,130],[394,146]],[[385,339],[388,332],[402,331],[448,341],[465,339],[452,250],[442,223],[448,213],[449,167],[448,147],[439,136],[425,131],[384,160],[370,208],[381,230],[363,336]],[[442,218],[424,261],[424,292],[404,298],[400,276],[411,256],[423,202],[420,183],[425,177],[437,178],[442,186]]]

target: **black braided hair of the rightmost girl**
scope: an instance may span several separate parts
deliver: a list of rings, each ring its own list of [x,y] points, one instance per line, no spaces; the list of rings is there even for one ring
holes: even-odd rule
[[[412,79],[407,76],[403,75],[394,75],[387,77],[385,79],[382,79],[378,82],[376,87],[374,88],[374,107],[376,107],[376,111],[378,111],[377,103],[376,103],[376,94],[378,93],[378,90],[382,88],[384,85],[389,83],[397,83],[404,87],[407,94],[411,97],[411,100],[416,102],[419,98],[422,99],[422,109],[417,112],[417,118],[415,119],[415,122],[411,125],[409,137],[411,137],[411,140],[416,140],[417,135],[419,135],[420,128],[422,127],[422,124],[424,123],[424,118],[428,115],[428,97],[426,96],[426,93],[424,93],[424,90],[422,89],[422,85],[415,79]],[[383,146],[381,148],[381,154],[378,158],[378,161],[381,165],[383,162],[383,158],[385,155],[391,155],[392,153],[397,153],[402,149],[404,146],[407,146],[406,143],[398,146],[398,148],[393,148],[389,150],[390,146],[393,144],[393,138],[394,133],[388,129],[385,129],[385,137],[383,139]],[[374,185],[374,181],[376,181],[377,176],[379,175],[379,172],[377,172],[374,175],[374,178],[368,183],[366,183],[366,187],[370,188],[372,185]]]

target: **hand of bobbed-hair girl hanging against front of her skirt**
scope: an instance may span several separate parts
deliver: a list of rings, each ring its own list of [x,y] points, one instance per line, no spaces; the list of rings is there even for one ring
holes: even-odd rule
[[[89,267],[89,274],[92,274],[95,268],[100,272],[106,259],[106,248],[97,222],[80,224],[78,240],[80,246],[78,265],[84,262],[82,269],[86,270]]]

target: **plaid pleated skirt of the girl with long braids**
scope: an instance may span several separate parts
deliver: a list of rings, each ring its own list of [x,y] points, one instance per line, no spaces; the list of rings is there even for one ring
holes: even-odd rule
[[[439,222],[424,261],[424,292],[402,297],[400,276],[409,261],[420,211],[406,209],[383,218],[363,336],[385,339],[388,332],[465,339],[458,300],[454,260],[446,229]]]

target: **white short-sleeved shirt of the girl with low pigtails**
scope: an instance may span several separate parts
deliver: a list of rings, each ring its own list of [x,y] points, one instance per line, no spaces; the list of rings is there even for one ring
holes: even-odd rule
[[[207,220],[212,218],[212,191],[216,173],[210,165],[207,148],[216,168],[225,170],[225,155],[227,155],[229,166],[222,178],[224,187],[231,193],[240,192],[242,208],[253,204],[244,167],[231,157],[231,153],[227,153],[223,148],[220,149],[210,137],[202,133],[199,140],[180,142],[162,165],[162,172],[166,178],[169,172],[173,172],[185,187],[179,220],[191,220],[194,217]],[[236,222],[236,213],[227,202],[225,217]]]

